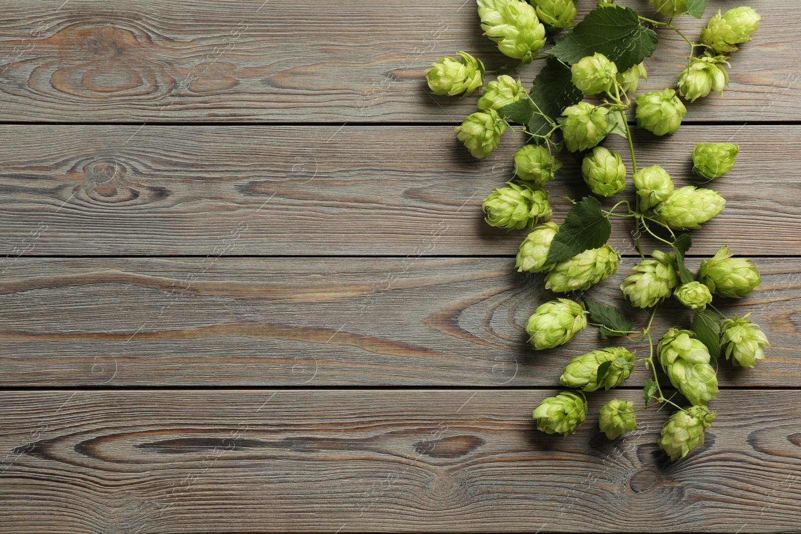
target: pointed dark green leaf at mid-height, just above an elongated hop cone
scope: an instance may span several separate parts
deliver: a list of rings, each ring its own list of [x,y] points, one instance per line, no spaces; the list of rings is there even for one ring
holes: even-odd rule
[[[612,225],[601,211],[595,197],[585,197],[567,214],[553,237],[545,263],[557,263],[591,248],[603,247],[612,233]]]

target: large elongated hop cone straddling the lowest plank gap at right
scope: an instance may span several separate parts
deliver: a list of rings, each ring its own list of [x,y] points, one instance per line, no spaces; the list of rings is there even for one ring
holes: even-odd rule
[[[692,404],[706,404],[718,396],[718,377],[709,351],[689,330],[670,328],[662,335],[657,355],[670,383]]]

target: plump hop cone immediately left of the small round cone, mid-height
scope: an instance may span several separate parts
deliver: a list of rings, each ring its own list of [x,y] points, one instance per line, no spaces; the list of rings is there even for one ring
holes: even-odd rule
[[[668,298],[678,284],[675,255],[653,251],[654,259],[643,259],[634,274],[620,284],[623,296],[636,307],[653,307]]]

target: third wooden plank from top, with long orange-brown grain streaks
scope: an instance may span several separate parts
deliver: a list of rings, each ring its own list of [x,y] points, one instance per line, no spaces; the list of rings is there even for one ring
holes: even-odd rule
[[[798,262],[756,261],[759,290],[718,305],[752,312],[773,347],[753,370],[722,361],[718,378],[801,386]],[[644,326],[618,289],[633,265],[586,295]],[[620,343],[589,327],[533,351],[522,326],[551,298],[510,259],[19,259],[0,275],[0,383],[551,387],[570,358]],[[690,317],[671,300],[654,332]],[[641,363],[627,384],[648,376]]]

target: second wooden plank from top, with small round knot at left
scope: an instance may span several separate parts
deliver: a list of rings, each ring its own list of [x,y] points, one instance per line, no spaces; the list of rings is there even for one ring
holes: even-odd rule
[[[521,136],[486,160],[449,126],[2,126],[0,255],[511,255],[522,231],[488,227],[481,200],[513,178]],[[607,146],[628,161],[625,139]],[[741,144],[714,182],[727,209],[698,254],[801,255],[801,126],[686,126],[646,136],[641,166],[691,183],[695,143]],[[778,157],[777,154],[781,154]],[[570,155],[549,184],[588,194]],[[629,194],[631,195],[631,193]],[[617,198],[626,198],[618,195]],[[630,197],[629,197],[630,198]],[[607,199],[610,206],[612,199]],[[634,251],[630,221],[611,243]],[[649,245],[650,246],[650,245]]]

